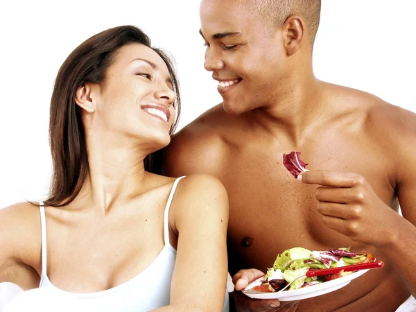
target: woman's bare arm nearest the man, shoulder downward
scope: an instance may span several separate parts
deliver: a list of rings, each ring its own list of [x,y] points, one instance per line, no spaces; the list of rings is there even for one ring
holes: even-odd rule
[[[155,311],[223,310],[227,284],[228,198],[210,175],[190,175],[173,200],[178,232],[171,305]]]

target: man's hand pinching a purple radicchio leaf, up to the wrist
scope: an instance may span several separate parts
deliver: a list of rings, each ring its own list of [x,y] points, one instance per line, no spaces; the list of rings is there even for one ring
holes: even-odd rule
[[[387,245],[400,218],[356,173],[306,171],[298,180],[318,184],[317,210],[327,227],[354,241],[376,247]]]

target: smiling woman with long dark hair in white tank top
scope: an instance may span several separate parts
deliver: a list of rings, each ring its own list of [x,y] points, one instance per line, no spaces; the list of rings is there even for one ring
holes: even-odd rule
[[[159,175],[175,110],[171,61],[138,28],[69,55],[51,99],[49,198],[0,210],[0,282],[40,288],[17,299],[42,307],[44,289],[94,311],[223,309],[227,194],[209,175]]]

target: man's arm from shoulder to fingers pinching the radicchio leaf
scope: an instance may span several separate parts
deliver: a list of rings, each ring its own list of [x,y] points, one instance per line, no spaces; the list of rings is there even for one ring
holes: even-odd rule
[[[317,210],[331,229],[374,245],[416,296],[416,114],[388,107],[372,120],[379,141],[387,142],[395,168],[395,193],[403,217],[356,173],[308,171],[302,182],[318,184]],[[382,129],[381,129],[382,128]]]

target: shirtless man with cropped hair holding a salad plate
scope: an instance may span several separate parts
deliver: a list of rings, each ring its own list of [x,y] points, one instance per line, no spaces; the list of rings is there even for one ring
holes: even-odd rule
[[[286,304],[239,290],[296,246],[385,261],[296,311],[395,311],[416,293],[416,114],[315,78],[320,0],[202,0],[200,18],[223,103],[175,135],[168,174],[225,185],[238,311]],[[282,164],[291,151],[309,163],[302,182]]]

